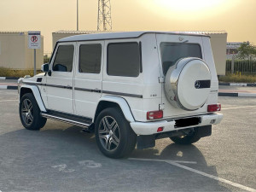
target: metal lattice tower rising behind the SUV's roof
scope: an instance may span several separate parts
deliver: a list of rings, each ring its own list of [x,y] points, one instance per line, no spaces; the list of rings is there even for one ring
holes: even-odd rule
[[[98,0],[97,31],[111,31],[111,4],[110,0]]]

